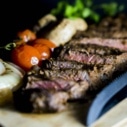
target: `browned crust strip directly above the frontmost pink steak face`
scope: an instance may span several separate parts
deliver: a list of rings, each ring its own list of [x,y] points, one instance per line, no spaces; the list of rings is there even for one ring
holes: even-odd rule
[[[29,82],[32,80],[40,79],[64,79],[72,81],[89,81],[89,76],[84,69],[44,69],[40,67],[34,67],[27,74],[27,79]],[[36,78],[37,77],[37,78]]]

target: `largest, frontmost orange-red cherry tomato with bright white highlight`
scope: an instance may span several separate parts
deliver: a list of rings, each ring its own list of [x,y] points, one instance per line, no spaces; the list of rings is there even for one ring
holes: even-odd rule
[[[14,48],[11,52],[12,62],[28,71],[33,65],[39,65],[41,55],[34,47],[24,44]]]

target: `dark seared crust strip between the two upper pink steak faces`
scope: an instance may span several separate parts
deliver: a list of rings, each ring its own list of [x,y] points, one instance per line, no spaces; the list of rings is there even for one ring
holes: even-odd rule
[[[74,41],[74,40],[72,40]],[[120,51],[117,48],[113,48],[113,47],[108,47],[108,46],[102,46],[102,45],[98,45],[98,44],[87,44],[86,43],[80,43],[80,39],[77,40],[77,42],[72,42],[70,41],[69,43],[65,44],[64,46],[59,46],[57,48],[55,48],[54,52],[53,52],[53,57],[60,57],[61,59],[63,59],[64,54],[68,53],[68,52],[80,52],[80,53],[84,53],[84,54],[96,54],[96,55],[100,55],[100,56],[108,56],[108,55],[119,55],[121,54],[123,51]]]

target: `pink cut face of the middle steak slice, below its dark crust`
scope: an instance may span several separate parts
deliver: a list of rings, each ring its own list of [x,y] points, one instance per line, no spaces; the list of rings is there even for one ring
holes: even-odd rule
[[[78,51],[69,50],[63,56],[60,54],[60,58],[65,60],[73,60],[88,65],[104,65],[112,64],[116,59],[116,55],[101,56],[98,54],[87,54]]]

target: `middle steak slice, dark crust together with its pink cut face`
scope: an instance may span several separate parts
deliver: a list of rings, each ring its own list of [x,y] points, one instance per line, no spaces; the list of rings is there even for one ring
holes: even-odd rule
[[[63,60],[71,60],[76,61],[79,63],[83,63],[84,65],[104,65],[104,64],[112,64],[114,60],[116,59],[116,56],[121,55],[122,52],[109,48],[107,50],[107,47],[101,47],[101,46],[89,46],[87,47],[81,46],[83,48],[76,48],[79,46],[75,45],[75,48],[73,46],[64,46],[63,50],[60,52],[59,49],[56,49],[56,53],[59,54],[57,57],[59,59]],[[96,48],[95,48],[96,47]]]

